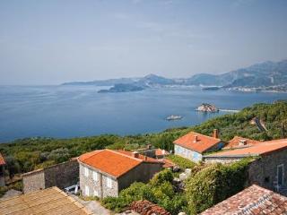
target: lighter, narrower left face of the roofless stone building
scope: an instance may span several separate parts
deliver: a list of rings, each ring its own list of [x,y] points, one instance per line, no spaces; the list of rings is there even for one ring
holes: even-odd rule
[[[23,193],[45,189],[44,169],[22,175]]]

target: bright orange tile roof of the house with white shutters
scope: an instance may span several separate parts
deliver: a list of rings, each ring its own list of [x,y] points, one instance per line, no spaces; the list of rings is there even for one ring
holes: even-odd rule
[[[161,163],[161,161],[143,155],[139,155],[139,158],[133,158],[132,155],[132,152],[125,150],[94,150],[81,155],[79,160],[115,177],[126,174],[143,162]]]

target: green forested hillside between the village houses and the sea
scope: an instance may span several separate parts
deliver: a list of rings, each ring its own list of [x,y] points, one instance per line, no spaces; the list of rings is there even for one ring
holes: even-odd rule
[[[260,118],[268,131],[260,132],[256,125],[250,125],[250,120],[253,117]],[[178,136],[191,130],[209,135],[213,133],[214,128],[217,128],[220,130],[221,138],[224,141],[230,140],[234,135],[257,140],[278,139],[282,137],[282,125],[287,128],[287,101],[277,101],[274,104],[257,104],[246,107],[236,114],[213,118],[202,125],[169,129],[161,133],[124,137],[105,134],[72,139],[28,138],[2,143],[0,144],[0,151],[6,159],[10,174],[13,176],[16,173],[28,172],[63,162],[86,151],[106,147],[133,150],[151,143],[154,147],[172,150],[172,142]]]

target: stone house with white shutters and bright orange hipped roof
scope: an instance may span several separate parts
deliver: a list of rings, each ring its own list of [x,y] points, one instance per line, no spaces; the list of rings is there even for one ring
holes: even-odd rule
[[[148,182],[161,171],[160,160],[126,150],[94,150],[78,158],[83,196],[117,196],[134,182]]]

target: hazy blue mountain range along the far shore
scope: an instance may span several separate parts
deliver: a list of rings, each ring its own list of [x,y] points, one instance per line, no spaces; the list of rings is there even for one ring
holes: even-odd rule
[[[262,88],[287,84],[287,60],[266,61],[222,74],[199,73],[187,79],[169,79],[155,74],[141,78],[120,78],[93,82],[67,82],[64,85],[114,86],[118,83],[135,84],[143,88],[166,85],[204,85],[224,88]]]

